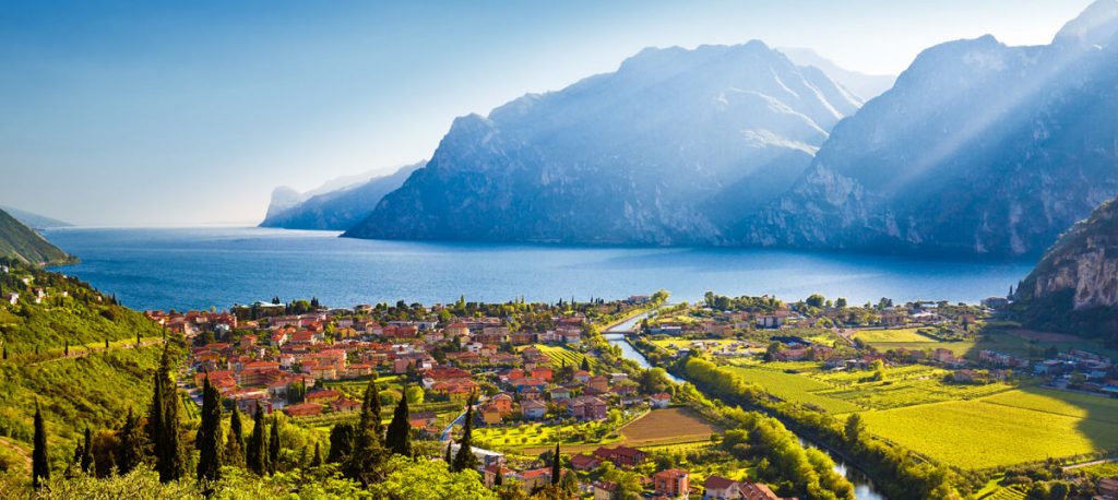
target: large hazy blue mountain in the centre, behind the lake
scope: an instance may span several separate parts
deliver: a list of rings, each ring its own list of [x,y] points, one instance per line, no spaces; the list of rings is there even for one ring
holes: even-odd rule
[[[456,119],[344,236],[721,243],[861,104],[760,41],[645,49],[614,73]]]

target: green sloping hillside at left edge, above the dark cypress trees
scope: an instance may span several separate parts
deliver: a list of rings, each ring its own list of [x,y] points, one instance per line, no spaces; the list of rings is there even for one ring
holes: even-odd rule
[[[116,427],[129,408],[142,413],[162,331],[141,313],[76,279],[20,264],[0,274],[0,469],[22,468],[35,404],[51,433],[50,460],[63,469],[88,425]],[[27,281],[25,283],[25,280]],[[42,298],[36,300],[36,291]],[[12,304],[11,293],[18,298]],[[136,337],[142,347],[136,347]],[[108,349],[105,349],[105,341]]]

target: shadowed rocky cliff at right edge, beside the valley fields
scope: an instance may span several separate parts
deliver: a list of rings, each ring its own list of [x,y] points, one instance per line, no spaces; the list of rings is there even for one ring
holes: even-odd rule
[[[1118,346],[1118,200],[1102,204],[1061,236],[1014,299],[1031,327]]]

